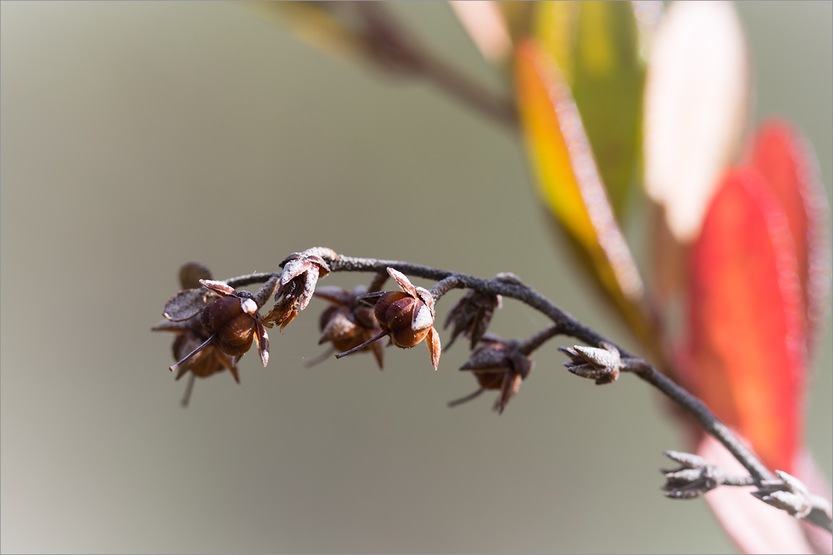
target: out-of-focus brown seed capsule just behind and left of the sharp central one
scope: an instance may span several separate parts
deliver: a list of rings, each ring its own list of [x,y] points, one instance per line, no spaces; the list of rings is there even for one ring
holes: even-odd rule
[[[359,285],[352,291],[340,287],[319,287],[315,292],[317,298],[332,303],[321,315],[319,326],[321,336],[318,344],[332,343],[339,351],[347,351],[364,344],[382,328],[373,315],[373,309],[361,305],[358,299],[367,292],[367,287]],[[376,357],[379,369],[384,363],[384,346],[378,341],[367,344],[360,350],[370,350]]]

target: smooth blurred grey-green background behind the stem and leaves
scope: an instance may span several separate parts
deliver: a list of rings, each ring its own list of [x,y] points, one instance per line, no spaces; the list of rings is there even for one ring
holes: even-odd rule
[[[500,90],[445,3],[393,9]],[[810,137],[830,198],[831,3],[737,9],[757,114]],[[661,496],[661,451],[685,447],[661,399],[637,379],[567,374],[567,339],[541,349],[498,417],[491,394],[446,409],[475,389],[456,370],[463,344],[437,372],[424,347],[389,349],[382,373],[367,355],[304,368],[322,350],[313,301],[272,330],[267,369],[250,354],[241,385],[199,380],[182,409],[172,337],[149,328],[187,260],[222,279],[327,245],[513,271],[633,343],[552,234],[518,137],[430,86],[338,61],[234,3],[0,11],[3,553],[733,549],[705,503]],[[493,330],[544,325],[506,302]],[[825,337],[809,443],[830,478]]]

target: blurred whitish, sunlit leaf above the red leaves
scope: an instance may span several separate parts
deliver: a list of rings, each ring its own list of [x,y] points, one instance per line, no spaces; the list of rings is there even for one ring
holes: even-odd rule
[[[646,191],[676,240],[700,230],[751,111],[741,23],[729,2],[674,2],[651,46],[644,117]]]

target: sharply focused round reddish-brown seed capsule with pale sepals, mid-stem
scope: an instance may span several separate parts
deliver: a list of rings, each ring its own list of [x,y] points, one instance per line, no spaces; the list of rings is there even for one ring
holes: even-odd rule
[[[408,349],[419,344],[422,339],[427,339],[431,364],[436,370],[440,364],[441,346],[440,334],[434,329],[434,298],[428,290],[414,287],[402,272],[388,268],[387,273],[396,280],[402,291],[378,291],[359,297],[364,303],[375,301],[373,314],[376,315],[382,332],[358,347],[337,354],[337,358],[363,349],[367,344],[372,344],[389,334],[392,344],[402,349]]]

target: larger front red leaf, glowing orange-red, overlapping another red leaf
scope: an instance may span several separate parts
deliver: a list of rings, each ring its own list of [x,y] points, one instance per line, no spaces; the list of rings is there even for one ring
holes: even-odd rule
[[[804,441],[805,319],[787,217],[754,169],[719,183],[691,245],[684,379],[768,468]]]

